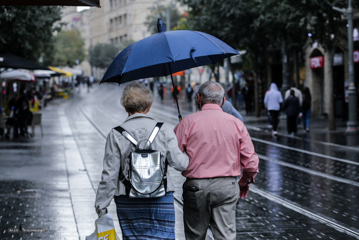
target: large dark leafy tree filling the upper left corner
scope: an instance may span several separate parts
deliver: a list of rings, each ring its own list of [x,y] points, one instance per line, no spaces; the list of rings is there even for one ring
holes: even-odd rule
[[[57,6],[0,6],[0,51],[37,61],[60,31]]]

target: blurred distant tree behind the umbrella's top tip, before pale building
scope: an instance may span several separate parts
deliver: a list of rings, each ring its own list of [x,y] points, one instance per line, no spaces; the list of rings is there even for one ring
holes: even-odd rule
[[[167,9],[168,6],[164,5],[157,5],[153,11],[152,14],[147,16],[147,21],[145,22],[145,25],[148,28],[148,31],[151,32],[151,34],[157,33],[157,19],[162,18],[162,21],[166,23],[167,21]],[[182,18],[182,15],[178,12],[177,8],[169,8],[169,15],[170,15],[170,28],[173,29],[177,26],[178,21]]]

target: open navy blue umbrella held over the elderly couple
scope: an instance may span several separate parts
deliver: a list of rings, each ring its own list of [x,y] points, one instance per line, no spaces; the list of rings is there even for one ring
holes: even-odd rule
[[[118,84],[142,78],[164,77],[198,66],[215,64],[239,54],[232,47],[209,34],[195,31],[165,31],[163,21],[157,22],[158,33],[126,47],[104,74],[101,83]],[[178,117],[181,121],[180,108]]]

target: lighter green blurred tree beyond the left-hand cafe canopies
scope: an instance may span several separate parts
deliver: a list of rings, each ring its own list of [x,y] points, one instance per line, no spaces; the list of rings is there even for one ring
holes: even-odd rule
[[[77,30],[61,31],[54,37],[53,65],[70,66],[86,57],[85,41]]]

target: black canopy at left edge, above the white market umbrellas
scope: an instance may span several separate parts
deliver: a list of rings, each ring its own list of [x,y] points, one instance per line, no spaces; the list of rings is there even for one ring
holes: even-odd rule
[[[41,66],[10,53],[0,53],[0,68],[50,70],[48,67]]]

